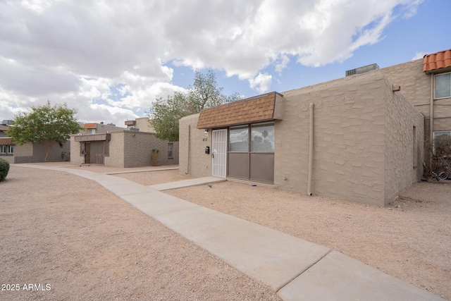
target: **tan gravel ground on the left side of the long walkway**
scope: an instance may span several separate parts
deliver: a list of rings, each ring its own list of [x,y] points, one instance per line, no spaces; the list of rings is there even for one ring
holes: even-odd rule
[[[0,300],[280,300],[99,184],[18,166],[0,183],[0,285]]]

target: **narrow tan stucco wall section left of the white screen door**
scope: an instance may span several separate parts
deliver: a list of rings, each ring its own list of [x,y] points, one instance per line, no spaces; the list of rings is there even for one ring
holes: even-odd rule
[[[205,147],[211,148],[211,130],[205,134],[204,129],[197,129],[198,119],[199,114],[194,114],[179,121],[179,172],[204,177],[211,175],[211,154],[205,154]]]

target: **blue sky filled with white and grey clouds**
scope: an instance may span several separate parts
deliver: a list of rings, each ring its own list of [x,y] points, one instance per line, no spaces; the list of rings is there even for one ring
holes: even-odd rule
[[[214,70],[252,97],[451,48],[449,0],[0,0],[0,121],[66,102],[85,122],[146,116]]]

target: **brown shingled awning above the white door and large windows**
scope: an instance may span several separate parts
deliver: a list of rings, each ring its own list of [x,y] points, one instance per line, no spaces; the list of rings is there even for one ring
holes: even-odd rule
[[[199,113],[197,128],[218,128],[223,126],[268,121],[274,119],[277,92],[242,99],[238,102],[204,109]]]

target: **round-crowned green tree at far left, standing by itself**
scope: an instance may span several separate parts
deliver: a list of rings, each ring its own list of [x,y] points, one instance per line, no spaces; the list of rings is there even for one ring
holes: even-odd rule
[[[13,123],[8,127],[8,135],[18,145],[27,142],[42,143],[47,162],[51,148],[55,142],[60,147],[68,141],[70,134],[80,131],[75,109],[69,109],[67,104],[50,106],[50,102],[43,106],[32,106],[27,113],[14,116]]]

